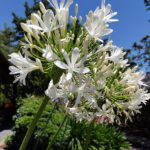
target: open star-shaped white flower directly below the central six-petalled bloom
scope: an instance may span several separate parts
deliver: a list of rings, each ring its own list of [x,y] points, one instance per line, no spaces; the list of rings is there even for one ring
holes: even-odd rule
[[[94,91],[97,89],[97,87],[95,86],[90,87],[91,80],[92,80],[91,78],[87,78],[85,82],[82,83],[80,79],[79,87],[77,87],[76,85],[70,86],[69,88],[70,92],[77,93],[75,104],[79,104],[82,97],[84,97],[86,100],[89,100],[93,104],[96,103],[96,100],[89,94],[89,93],[94,93]]]

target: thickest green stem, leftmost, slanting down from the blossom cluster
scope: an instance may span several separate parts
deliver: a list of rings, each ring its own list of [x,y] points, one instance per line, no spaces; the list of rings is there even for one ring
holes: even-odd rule
[[[28,142],[29,142],[29,140],[30,140],[30,138],[31,138],[31,135],[32,135],[32,133],[33,133],[35,127],[36,127],[36,123],[37,123],[38,120],[40,119],[40,116],[41,116],[42,112],[44,111],[44,108],[46,107],[46,105],[47,105],[47,103],[48,103],[48,100],[49,100],[48,97],[46,97],[46,98],[43,100],[43,102],[42,102],[42,104],[41,104],[41,106],[40,106],[40,108],[39,108],[39,110],[38,110],[38,112],[37,112],[35,118],[33,119],[33,121],[32,121],[32,123],[31,123],[30,127],[28,128],[28,131],[27,131],[27,133],[26,133],[26,135],[25,135],[25,137],[24,137],[24,139],[23,139],[23,142],[22,142],[21,147],[20,147],[19,150],[26,150],[26,147],[27,147]]]

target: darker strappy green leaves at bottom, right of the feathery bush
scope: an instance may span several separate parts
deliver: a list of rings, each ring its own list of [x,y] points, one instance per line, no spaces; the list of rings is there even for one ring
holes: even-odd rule
[[[82,150],[89,125],[85,122],[71,121],[71,136],[69,137],[69,150]],[[89,150],[125,150],[130,149],[124,133],[115,127],[95,123],[92,129]]]

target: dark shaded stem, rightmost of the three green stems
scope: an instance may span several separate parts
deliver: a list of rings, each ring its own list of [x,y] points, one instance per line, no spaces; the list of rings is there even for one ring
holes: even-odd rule
[[[94,121],[95,121],[95,118],[91,121],[90,126],[89,126],[89,128],[87,130],[86,141],[84,143],[83,150],[87,150],[88,149],[88,145],[90,143],[90,137],[91,137]]]

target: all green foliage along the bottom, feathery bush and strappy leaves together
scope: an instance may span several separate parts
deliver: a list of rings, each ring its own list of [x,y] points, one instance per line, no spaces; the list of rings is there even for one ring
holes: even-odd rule
[[[23,104],[13,117],[14,134],[7,138],[9,150],[19,149],[27,128],[36,114],[42,98],[29,97],[20,101]],[[42,114],[32,135],[27,150],[44,150],[63,121],[65,114],[60,112],[59,103],[49,103]],[[52,145],[57,150],[82,150],[87,136],[88,124],[77,123],[75,118],[69,117]],[[89,150],[123,150],[129,149],[129,143],[122,132],[108,125],[94,124],[91,134]]]

